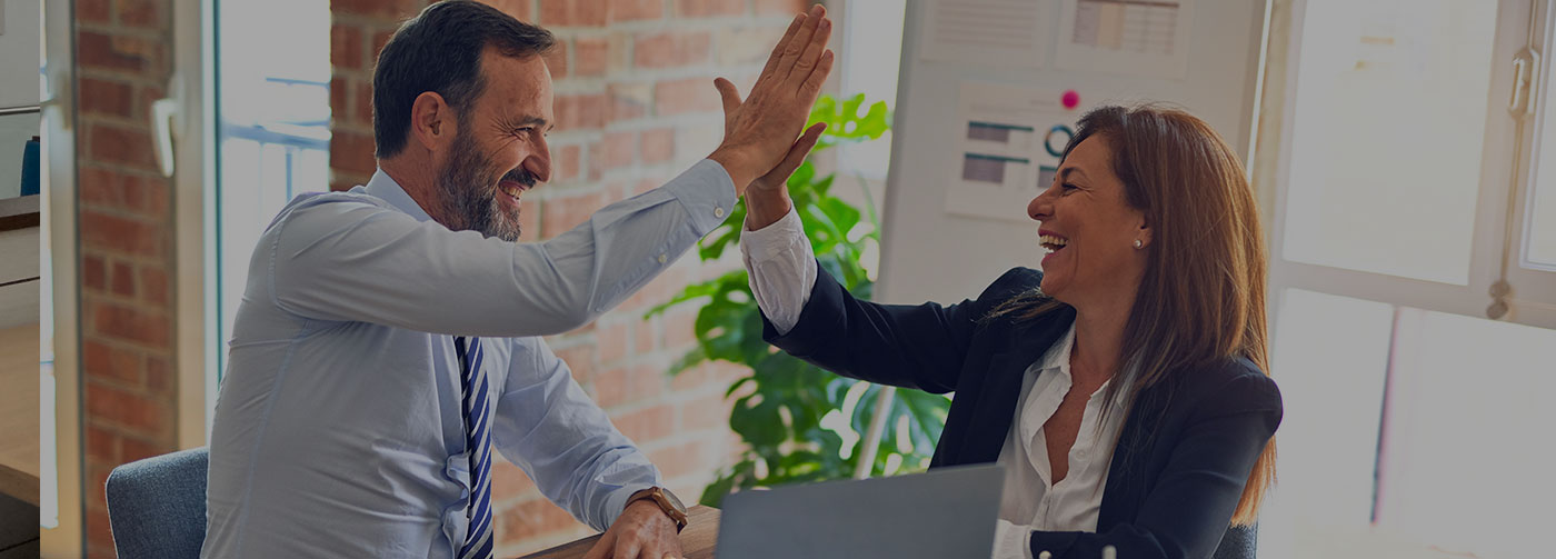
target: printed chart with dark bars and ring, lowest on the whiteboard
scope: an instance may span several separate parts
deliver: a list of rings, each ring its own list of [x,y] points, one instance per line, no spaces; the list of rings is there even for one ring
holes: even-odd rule
[[[1029,221],[1024,209],[1053,182],[1085,109],[1072,90],[962,83],[946,212]]]

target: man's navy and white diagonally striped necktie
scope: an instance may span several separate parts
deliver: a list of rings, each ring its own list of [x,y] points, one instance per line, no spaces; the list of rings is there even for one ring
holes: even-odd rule
[[[492,557],[492,422],[487,420],[487,381],[481,371],[481,338],[454,338],[459,381],[464,383],[465,447],[470,448],[470,529],[461,559]]]

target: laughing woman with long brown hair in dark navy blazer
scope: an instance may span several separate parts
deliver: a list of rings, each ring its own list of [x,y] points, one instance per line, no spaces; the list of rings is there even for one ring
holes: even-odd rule
[[[801,142],[803,143],[803,142]],[[999,462],[996,556],[1253,556],[1281,392],[1259,212],[1204,121],[1086,114],[1032,199],[1043,271],[941,307],[854,299],[817,268],[784,179],[747,190],[742,252],[766,339],[828,371],[951,392],[930,462]],[[1234,526],[1231,531],[1228,526]]]

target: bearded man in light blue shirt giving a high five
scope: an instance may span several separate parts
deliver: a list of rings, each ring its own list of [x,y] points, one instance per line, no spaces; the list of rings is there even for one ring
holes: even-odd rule
[[[724,143],[546,243],[515,243],[551,176],[548,31],[473,2],[401,26],[373,75],[378,173],[305,195],[249,263],[210,445],[205,557],[490,557],[492,450],[596,529],[591,557],[680,556],[658,470],[540,335],[588,324],[795,165],[831,72],[800,16]],[[798,137],[798,140],[795,140]]]

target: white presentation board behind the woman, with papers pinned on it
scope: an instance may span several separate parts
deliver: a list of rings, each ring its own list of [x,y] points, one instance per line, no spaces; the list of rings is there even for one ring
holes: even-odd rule
[[[1088,47],[1128,42],[1119,30],[1144,33],[1137,19],[1127,25],[1117,19],[1141,9],[1151,9],[1162,23],[1150,40],[1159,44],[1161,33],[1175,33],[1173,56],[1109,59],[1109,51]],[[1081,103],[1069,114],[1071,126],[1083,109],[1097,104],[1172,103],[1243,149],[1253,131],[1265,11],[1267,2],[1260,0],[909,2],[876,301],[952,304],[976,297],[1005,269],[1038,268],[1036,221],[1025,218],[1025,201],[1036,195],[1036,182],[1025,181],[1033,188],[1021,199],[1005,196],[999,206],[1008,209],[999,212],[1008,210],[1008,216],[948,212],[948,190],[965,168],[965,84],[1055,97],[1075,90]],[[1035,33],[1025,26],[1033,20]],[[955,33],[965,30],[976,33],[957,44]],[[976,58],[980,51],[993,54]],[[1109,70],[1099,70],[1105,67]],[[1039,126],[1038,134],[1043,131]]]

